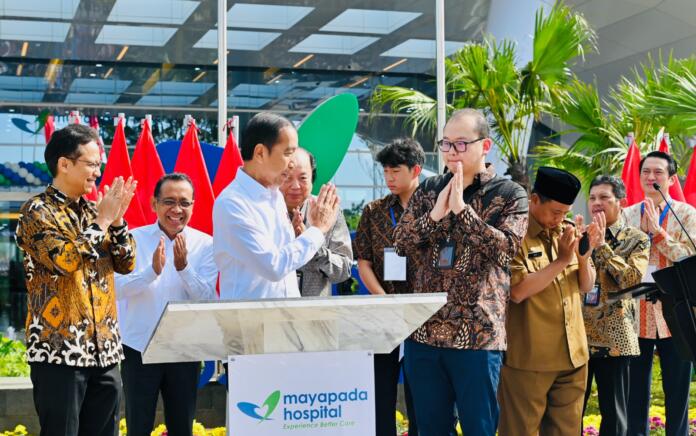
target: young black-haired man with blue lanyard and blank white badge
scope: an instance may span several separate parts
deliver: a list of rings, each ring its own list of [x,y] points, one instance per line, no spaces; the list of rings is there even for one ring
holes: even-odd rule
[[[371,294],[413,292],[413,266],[394,253],[394,227],[404,213],[425,162],[420,144],[411,138],[396,139],[377,153],[391,194],[365,206],[353,241],[360,278]],[[399,347],[390,354],[375,354],[376,434],[396,433],[396,388],[399,380]],[[410,407],[410,390],[404,379],[409,434],[418,434]]]

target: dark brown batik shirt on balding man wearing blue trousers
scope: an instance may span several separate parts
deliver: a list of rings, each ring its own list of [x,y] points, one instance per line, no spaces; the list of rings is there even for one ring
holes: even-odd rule
[[[430,218],[452,174],[431,177],[414,193],[396,227],[396,251],[413,259],[416,293],[446,292],[447,303],[411,338],[445,348],[505,350],[509,264],[527,231],[527,193],[491,172],[464,190],[464,209],[440,222]],[[452,269],[438,267],[454,243]]]

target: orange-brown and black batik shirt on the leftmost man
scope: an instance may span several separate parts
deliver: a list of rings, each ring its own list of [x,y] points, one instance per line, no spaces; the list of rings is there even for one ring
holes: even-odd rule
[[[114,271],[133,270],[135,241],[125,225],[102,231],[96,217],[93,203],[53,186],[20,210],[29,362],[106,367],[123,359]]]

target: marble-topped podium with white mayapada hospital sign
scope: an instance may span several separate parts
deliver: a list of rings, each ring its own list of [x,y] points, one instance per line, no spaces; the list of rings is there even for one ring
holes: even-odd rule
[[[142,358],[229,361],[228,434],[370,436],[372,353],[390,353],[446,302],[446,293],[170,302]]]

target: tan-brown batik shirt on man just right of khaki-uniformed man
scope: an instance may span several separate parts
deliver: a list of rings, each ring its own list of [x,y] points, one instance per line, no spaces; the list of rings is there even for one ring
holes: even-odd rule
[[[612,293],[641,282],[649,255],[648,235],[626,225],[622,217],[607,228],[606,243],[592,253],[599,302],[585,304],[582,310],[591,357],[640,355],[634,328],[636,302],[630,296],[613,299]]]

